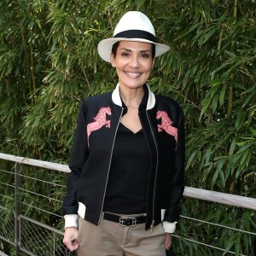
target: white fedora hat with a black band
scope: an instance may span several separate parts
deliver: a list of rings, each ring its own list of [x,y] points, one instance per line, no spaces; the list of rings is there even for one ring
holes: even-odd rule
[[[155,45],[155,56],[166,53],[170,47],[156,43],[154,26],[146,15],[130,11],[121,17],[113,32],[113,38],[103,39],[98,44],[98,53],[104,61],[110,62],[113,44],[119,41],[134,41]]]

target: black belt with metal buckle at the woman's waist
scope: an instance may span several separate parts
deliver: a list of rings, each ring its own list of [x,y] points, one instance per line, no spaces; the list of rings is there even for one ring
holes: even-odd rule
[[[138,217],[119,216],[109,212],[104,212],[103,218],[119,223],[122,226],[136,226],[137,224],[143,224],[146,222],[146,216],[138,216]]]

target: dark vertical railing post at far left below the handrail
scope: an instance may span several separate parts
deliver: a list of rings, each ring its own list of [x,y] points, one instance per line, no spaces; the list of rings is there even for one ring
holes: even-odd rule
[[[20,188],[21,188],[21,164],[15,164],[15,247],[16,256],[20,255]]]

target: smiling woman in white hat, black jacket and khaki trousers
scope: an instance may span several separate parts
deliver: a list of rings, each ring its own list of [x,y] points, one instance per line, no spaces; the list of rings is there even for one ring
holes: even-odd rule
[[[154,57],[170,48],[156,43],[150,20],[137,11],[113,35],[98,52],[119,84],[81,103],[63,242],[80,256],[166,255],[184,188],[183,112],[146,82]]]

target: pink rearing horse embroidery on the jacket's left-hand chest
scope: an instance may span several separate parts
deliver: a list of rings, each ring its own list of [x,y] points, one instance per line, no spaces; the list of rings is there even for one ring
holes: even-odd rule
[[[89,147],[89,137],[90,133],[92,131],[96,131],[102,128],[102,126],[106,125],[106,128],[110,128],[110,120],[106,119],[106,115],[111,115],[111,108],[101,108],[99,110],[99,113],[96,114],[96,117],[94,118],[95,122],[92,122],[87,125],[87,141],[88,141],[88,147]]]

